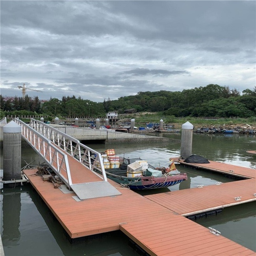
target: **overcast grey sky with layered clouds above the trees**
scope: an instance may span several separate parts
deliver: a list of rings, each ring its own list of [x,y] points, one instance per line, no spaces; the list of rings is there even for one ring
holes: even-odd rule
[[[255,1],[0,1],[1,94],[253,89]]]

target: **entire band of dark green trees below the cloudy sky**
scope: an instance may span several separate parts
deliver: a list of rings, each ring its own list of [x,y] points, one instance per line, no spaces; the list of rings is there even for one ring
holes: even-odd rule
[[[5,99],[0,95],[2,113],[30,111],[42,115],[68,117],[99,117],[108,111],[124,113],[126,109],[160,112],[175,117],[252,117],[256,116],[256,86],[239,92],[228,86],[209,84],[183,91],[139,92],[134,96],[123,96],[104,102],[83,100],[81,97],[63,96],[41,102],[38,97],[17,97]],[[28,114],[29,115],[29,114]],[[1,115],[2,116],[2,115]]]

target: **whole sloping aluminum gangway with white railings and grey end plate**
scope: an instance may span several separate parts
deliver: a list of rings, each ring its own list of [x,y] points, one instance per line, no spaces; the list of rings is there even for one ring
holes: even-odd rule
[[[108,182],[99,152],[41,121],[13,121],[21,126],[22,137],[80,200],[121,195]]]

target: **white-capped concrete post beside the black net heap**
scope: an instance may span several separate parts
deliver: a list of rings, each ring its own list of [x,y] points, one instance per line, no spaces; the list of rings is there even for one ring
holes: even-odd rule
[[[180,156],[186,159],[192,154],[193,124],[186,122],[182,124]]]

